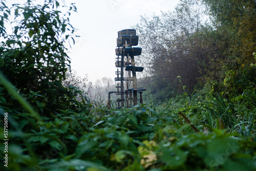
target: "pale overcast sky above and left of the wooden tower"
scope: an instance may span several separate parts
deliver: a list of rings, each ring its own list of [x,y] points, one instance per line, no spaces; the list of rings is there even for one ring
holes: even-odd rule
[[[70,17],[73,27],[79,29],[76,45],[70,53],[71,67],[78,75],[89,79],[110,77],[114,80],[117,32],[140,22],[140,16],[155,12],[173,11],[178,0],[77,0],[77,13]],[[142,49],[143,53],[143,49]]]

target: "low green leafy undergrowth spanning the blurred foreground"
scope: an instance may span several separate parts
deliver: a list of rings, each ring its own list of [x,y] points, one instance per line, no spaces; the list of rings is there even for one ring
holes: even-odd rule
[[[9,165],[8,168],[11,170],[35,167],[41,170],[255,169],[256,144],[250,138],[255,135],[255,126],[244,123],[252,126],[250,135],[243,134],[238,129],[225,129],[228,128],[227,124],[220,127],[216,122],[216,125],[210,126],[202,116],[203,111],[207,113],[207,108],[210,111],[217,110],[226,104],[225,100],[220,96],[219,99],[198,96],[197,99],[191,100],[190,106],[187,106],[182,105],[185,101],[184,97],[174,98],[176,106],[164,106],[164,110],[158,110],[159,112],[145,105],[120,110],[107,110],[101,107],[102,112],[92,116],[61,110],[53,119],[41,117],[40,122],[33,117],[25,117],[25,113],[9,115],[10,124],[16,126],[11,126],[9,138],[12,139],[12,145],[8,153],[9,162],[15,164]],[[233,102],[240,100],[241,97],[238,97],[233,99]],[[223,102],[225,104],[219,104]],[[158,108],[163,106],[159,105]],[[184,112],[200,133],[194,133],[190,129],[190,124],[184,123],[184,120],[179,118],[179,111]],[[240,111],[241,115],[242,111]],[[251,112],[255,115],[255,110]],[[243,117],[246,120],[247,116]],[[254,123],[255,118],[250,121]],[[3,129],[1,132],[3,133]],[[246,136],[249,138],[245,138]]]

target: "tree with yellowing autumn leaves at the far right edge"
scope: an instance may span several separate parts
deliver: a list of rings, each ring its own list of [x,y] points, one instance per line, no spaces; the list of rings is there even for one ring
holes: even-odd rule
[[[242,93],[246,88],[255,85],[255,68],[253,52],[256,49],[256,2],[253,0],[203,0],[207,6],[211,21],[220,40],[222,56],[222,73],[215,78],[222,90],[236,90]],[[215,54],[218,58],[220,56]],[[211,66],[220,63],[212,62]],[[212,72],[208,72],[212,74]]]

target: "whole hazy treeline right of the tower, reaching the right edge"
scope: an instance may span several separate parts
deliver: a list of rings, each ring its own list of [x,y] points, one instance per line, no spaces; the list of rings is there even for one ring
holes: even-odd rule
[[[155,101],[195,90],[255,90],[256,3],[182,0],[173,12],[135,26],[145,67],[141,86]],[[181,76],[182,84],[178,76]]]

